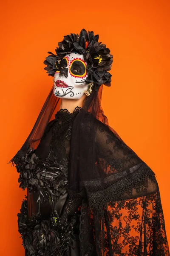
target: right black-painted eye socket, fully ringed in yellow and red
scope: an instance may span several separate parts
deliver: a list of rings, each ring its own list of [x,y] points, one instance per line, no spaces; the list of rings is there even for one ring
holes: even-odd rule
[[[69,71],[72,76],[83,77],[86,75],[85,63],[81,60],[73,60],[71,62]]]

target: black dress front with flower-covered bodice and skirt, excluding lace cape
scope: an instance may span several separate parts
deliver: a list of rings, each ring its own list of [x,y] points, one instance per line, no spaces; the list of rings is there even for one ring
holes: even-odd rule
[[[20,187],[27,197],[18,213],[26,256],[79,256],[79,202],[68,200],[71,128],[80,108],[60,109],[36,150],[23,157]],[[32,171],[31,171],[32,170]]]

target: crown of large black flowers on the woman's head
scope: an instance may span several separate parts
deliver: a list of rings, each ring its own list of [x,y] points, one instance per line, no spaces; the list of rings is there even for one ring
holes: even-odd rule
[[[45,58],[44,64],[47,65],[44,69],[47,70],[48,76],[54,76],[59,67],[59,61],[67,54],[77,52],[84,56],[87,62],[87,78],[85,82],[94,82],[95,87],[102,84],[111,86],[111,70],[113,55],[110,54],[110,49],[106,48],[105,44],[98,42],[99,35],[94,35],[93,31],[82,29],[80,34],[72,34],[64,36],[62,42],[58,43],[55,49],[56,54],[48,52],[50,55]]]

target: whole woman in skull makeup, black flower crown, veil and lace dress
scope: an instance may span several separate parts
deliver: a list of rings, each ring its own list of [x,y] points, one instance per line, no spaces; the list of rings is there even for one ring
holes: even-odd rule
[[[155,174],[100,105],[113,56],[98,39],[82,29],[48,52],[54,87],[11,160],[27,188],[18,213],[27,256],[169,255]]]

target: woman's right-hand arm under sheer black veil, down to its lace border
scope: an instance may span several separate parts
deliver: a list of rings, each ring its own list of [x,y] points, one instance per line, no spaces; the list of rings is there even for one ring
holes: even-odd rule
[[[150,167],[112,128],[97,122],[96,167],[100,177],[85,183],[91,206],[156,192],[158,184]]]

